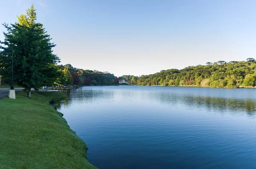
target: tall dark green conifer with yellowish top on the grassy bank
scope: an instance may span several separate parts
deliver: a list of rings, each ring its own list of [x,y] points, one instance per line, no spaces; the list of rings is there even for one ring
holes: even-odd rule
[[[1,73],[8,79],[11,77],[11,56],[13,47],[14,80],[17,85],[24,87],[31,97],[31,88],[39,89],[41,86],[52,84],[56,80],[56,63],[59,58],[52,54],[54,43],[41,23],[36,23],[36,9],[32,5],[21,14],[15,24],[4,23],[7,32],[3,33],[5,39]]]

